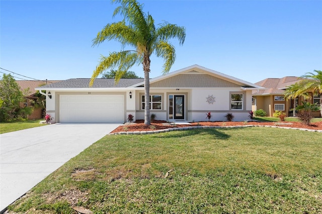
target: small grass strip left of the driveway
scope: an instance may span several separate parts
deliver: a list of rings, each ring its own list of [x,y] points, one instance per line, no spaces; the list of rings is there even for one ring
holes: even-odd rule
[[[34,127],[39,126],[45,126],[46,124],[39,124],[40,121],[43,121],[43,119],[40,120],[28,120],[28,121],[15,121],[15,122],[9,122],[9,123],[0,123],[0,134],[8,133],[8,132],[15,132],[23,129],[30,129]]]

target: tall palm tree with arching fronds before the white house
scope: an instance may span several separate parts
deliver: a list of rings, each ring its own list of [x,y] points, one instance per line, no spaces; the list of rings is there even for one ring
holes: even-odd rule
[[[99,45],[105,40],[116,40],[122,44],[122,48],[130,46],[135,50],[122,50],[112,52],[108,57],[102,56],[99,65],[93,72],[90,86],[95,78],[106,69],[116,68],[115,83],[133,65],[142,63],[144,71],[144,124],[150,125],[150,56],[155,53],[157,57],[164,58],[163,74],[170,71],[176,59],[175,47],[169,43],[169,39],[178,38],[180,45],[185,41],[186,30],[167,22],[155,28],[151,15],[142,12],[143,6],[135,0],[112,0],[120,3],[113,13],[124,16],[121,22],[107,24],[93,40],[93,46]]]

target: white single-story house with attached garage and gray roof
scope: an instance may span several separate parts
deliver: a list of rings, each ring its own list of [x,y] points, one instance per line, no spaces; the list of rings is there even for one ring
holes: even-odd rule
[[[144,79],[68,79],[36,88],[46,90],[46,112],[55,123],[124,123],[132,114],[144,119]],[[235,121],[249,119],[252,90],[262,87],[226,74],[193,65],[150,79],[150,114],[156,120]],[[51,98],[48,97],[51,94]]]

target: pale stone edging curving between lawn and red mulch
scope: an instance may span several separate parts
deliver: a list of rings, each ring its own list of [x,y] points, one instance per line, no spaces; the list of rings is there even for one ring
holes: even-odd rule
[[[322,133],[322,130],[314,130],[314,129],[302,129],[302,128],[282,127],[282,126],[245,125],[245,126],[188,126],[188,127],[177,127],[177,128],[169,128],[169,129],[162,129],[162,130],[154,130],[154,131],[117,132],[117,133],[111,133],[109,135],[147,135],[147,134],[156,134],[156,133],[191,130],[191,129],[223,129],[223,128],[244,128],[244,127],[269,127],[269,128],[293,129],[293,130],[300,130],[300,131]]]

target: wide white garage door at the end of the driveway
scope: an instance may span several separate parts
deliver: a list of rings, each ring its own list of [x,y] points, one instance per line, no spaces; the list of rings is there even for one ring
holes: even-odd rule
[[[60,123],[123,123],[124,95],[60,95]]]

